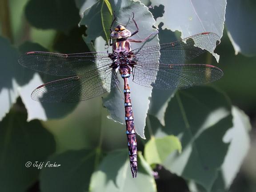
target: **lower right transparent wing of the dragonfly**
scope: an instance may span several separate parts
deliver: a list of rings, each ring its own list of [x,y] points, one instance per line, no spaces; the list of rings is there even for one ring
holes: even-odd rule
[[[133,81],[158,89],[183,89],[207,84],[223,76],[220,68],[208,64],[136,64]]]

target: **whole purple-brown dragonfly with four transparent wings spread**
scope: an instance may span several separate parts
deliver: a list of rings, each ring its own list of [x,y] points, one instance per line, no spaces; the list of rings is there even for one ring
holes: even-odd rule
[[[112,53],[85,52],[60,54],[52,52],[27,52],[20,56],[19,63],[32,70],[53,76],[65,76],[37,87],[31,94],[40,102],[78,102],[88,100],[116,88],[118,73],[124,80],[125,124],[132,177],[137,176],[137,142],[132,112],[132,81],[149,88],[183,89],[218,80],[223,76],[220,68],[209,64],[183,64],[200,54],[212,50],[220,43],[220,37],[212,32],[203,32],[172,43],[157,44],[132,49],[131,43],[142,43],[152,38],[151,33],[142,40],[130,37],[139,32],[131,32],[123,25],[112,30],[116,16],[110,27],[109,45]],[[203,47],[203,48],[201,48]],[[159,54],[160,53],[160,54]]]

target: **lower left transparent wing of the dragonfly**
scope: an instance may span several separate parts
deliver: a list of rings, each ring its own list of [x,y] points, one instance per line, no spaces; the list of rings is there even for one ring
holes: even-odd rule
[[[48,103],[87,100],[110,90],[111,81],[117,81],[116,75],[112,73],[112,69],[107,68],[98,72],[55,80],[36,88],[31,97],[33,100]]]

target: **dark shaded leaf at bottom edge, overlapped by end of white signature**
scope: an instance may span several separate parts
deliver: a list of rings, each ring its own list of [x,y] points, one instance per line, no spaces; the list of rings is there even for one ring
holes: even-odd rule
[[[40,189],[43,192],[88,191],[90,177],[94,171],[95,151],[82,149],[52,156],[44,161],[40,175]],[[60,164],[48,167],[46,164]]]

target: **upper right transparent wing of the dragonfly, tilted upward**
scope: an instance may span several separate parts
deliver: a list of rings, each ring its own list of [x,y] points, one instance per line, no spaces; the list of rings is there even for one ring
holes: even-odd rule
[[[192,60],[220,43],[215,33],[200,33],[173,43],[138,48],[132,52],[140,63],[182,64]],[[160,53],[160,54],[159,54]]]

